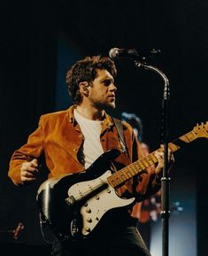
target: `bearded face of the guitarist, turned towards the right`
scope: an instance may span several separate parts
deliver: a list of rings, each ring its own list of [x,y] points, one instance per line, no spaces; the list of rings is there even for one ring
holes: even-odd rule
[[[96,78],[89,86],[89,100],[100,110],[108,107],[115,108],[116,90],[112,74],[106,69],[97,69]]]

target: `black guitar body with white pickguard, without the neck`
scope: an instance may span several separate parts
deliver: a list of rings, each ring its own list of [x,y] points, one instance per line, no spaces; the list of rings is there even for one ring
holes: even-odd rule
[[[135,198],[119,198],[107,181],[112,175],[110,161],[118,154],[115,150],[107,151],[86,172],[42,183],[37,192],[38,206],[42,220],[57,237],[69,240],[87,237],[104,213],[134,202]]]

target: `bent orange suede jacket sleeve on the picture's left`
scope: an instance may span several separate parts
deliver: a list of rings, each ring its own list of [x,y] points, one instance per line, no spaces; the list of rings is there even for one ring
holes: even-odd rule
[[[43,133],[42,133],[42,118],[39,121],[38,128],[27,139],[27,144],[24,144],[19,150],[14,151],[10,160],[10,168],[8,175],[12,182],[16,185],[21,185],[20,168],[22,163],[38,159],[43,150]]]

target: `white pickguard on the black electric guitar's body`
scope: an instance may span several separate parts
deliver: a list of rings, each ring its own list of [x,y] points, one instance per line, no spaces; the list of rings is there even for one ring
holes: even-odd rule
[[[76,200],[80,200],[104,183],[108,184],[107,177],[111,175],[111,171],[106,171],[104,175],[101,175],[95,180],[78,182],[68,190],[68,195],[73,196]],[[119,198],[112,186],[108,185],[107,188],[98,192],[96,196],[89,198],[84,206],[81,206],[80,212],[83,221],[83,227],[81,230],[82,235],[89,235],[103,217],[104,213],[108,210],[116,207],[128,206],[133,203],[134,200],[135,198]]]

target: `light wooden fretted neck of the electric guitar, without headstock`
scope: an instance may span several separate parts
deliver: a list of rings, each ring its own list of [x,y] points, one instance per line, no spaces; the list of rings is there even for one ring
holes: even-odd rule
[[[175,139],[173,142],[168,144],[168,148],[174,152],[181,149],[182,146],[191,143],[196,140],[198,136],[192,130],[189,133]],[[158,151],[163,151],[162,148],[159,148]],[[127,167],[120,169],[118,172],[114,173],[108,177],[108,182],[112,185],[113,188],[116,188],[120,184],[126,182],[135,175],[139,175],[148,167],[156,164],[158,159],[155,157],[155,151],[151,152],[148,156],[143,159],[139,159],[134,163],[130,164]]]

